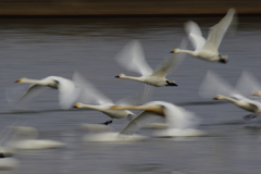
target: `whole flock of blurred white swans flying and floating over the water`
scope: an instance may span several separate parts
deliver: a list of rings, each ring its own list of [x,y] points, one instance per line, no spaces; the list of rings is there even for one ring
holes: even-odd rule
[[[187,42],[184,39],[179,48],[172,50],[171,53],[169,53],[169,58],[154,71],[147,64],[140,42],[134,40],[127,44],[116,55],[115,60],[126,70],[139,73],[141,76],[134,77],[119,74],[115,77],[145,83],[142,94],[139,94],[138,97],[136,96],[135,99],[123,99],[113,102],[101,94],[90,82],[85,79],[83,75],[76,72],[72,79],[60,76],[48,76],[44,79],[17,79],[16,83],[20,84],[32,84],[29,89],[17,102],[23,102],[25,99],[36,97],[41,91],[40,89],[42,87],[50,87],[59,90],[59,104],[62,109],[82,108],[97,110],[110,117],[103,125],[88,125],[86,126],[88,128],[108,129],[108,127],[110,127],[108,125],[113,123],[113,119],[127,117],[129,120],[127,126],[120,133],[108,132],[96,134],[96,137],[85,137],[84,139],[88,141],[136,141],[144,139],[146,138],[145,136],[137,135],[136,133],[139,128],[158,117],[164,117],[166,120],[166,125],[163,126],[166,127],[166,129],[158,132],[156,136],[174,137],[204,135],[206,133],[196,129],[199,119],[192,112],[165,101],[145,101],[149,96],[150,86],[178,86],[175,80],[170,80],[166,76],[181,64],[186,54],[209,62],[227,63],[227,57],[219,53],[219,47],[225,33],[233,25],[236,18],[235,14],[236,11],[234,9],[228,10],[227,14],[216,25],[210,28],[207,39],[202,37],[197,23],[186,23],[185,28],[195,51],[186,50]],[[248,84],[247,87],[244,86],[244,84]],[[249,72],[244,72],[238,80],[237,87],[232,88],[225,80],[209,71],[200,87],[200,95],[211,99],[214,98],[216,100],[233,102],[237,107],[252,112],[252,114],[244,116],[245,120],[251,120],[257,117],[261,112],[261,102],[248,99],[244,97],[244,95],[249,95],[247,92],[250,91],[250,94],[254,96],[261,96],[260,89],[260,85]],[[245,94],[239,91],[244,91]],[[130,110],[138,110],[141,113],[136,115]],[[26,128],[20,127],[20,129],[24,132]],[[11,140],[10,146],[16,149],[45,149],[64,146],[64,144],[58,141],[36,139],[36,129],[29,129],[28,132],[35,136],[28,138],[28,140]],[[2,152],[2,156],[0,153],[0,158],[7,157],[9,157],[9,153]]]

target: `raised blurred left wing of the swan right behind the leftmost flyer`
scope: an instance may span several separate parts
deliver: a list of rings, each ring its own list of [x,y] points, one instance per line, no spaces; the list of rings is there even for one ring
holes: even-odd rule
[[[80,96],[78,102],[96,103],[100,105],[113,103],[78,72],[74,73],[73,82],[80,87]]]

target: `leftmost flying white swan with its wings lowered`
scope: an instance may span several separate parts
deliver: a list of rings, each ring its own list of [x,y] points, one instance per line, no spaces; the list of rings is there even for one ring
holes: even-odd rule
[[[70,109],[75,104],[76,99],[78,98],[79,90],[77,85],[74,82],[67,78],[60,76],[48,76],[44,79],[29,79],[21,78],[16,83],[21,84],[34,84],[21,98],[20,101],[35,97],[39,94],[40,89],[44,86],[48,86],[59,90],[59,104],[62,109]]]

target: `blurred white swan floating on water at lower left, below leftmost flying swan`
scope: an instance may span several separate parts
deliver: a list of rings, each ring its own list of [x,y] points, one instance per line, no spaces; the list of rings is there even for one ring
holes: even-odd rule
[[[65,144],[49,140],[49,139],[36,139],[38,137],[38,130],[34,127],[14,127],[14,135],[8,146],[15,149],[37,150],[37,149],[53,149],[62,148]]]

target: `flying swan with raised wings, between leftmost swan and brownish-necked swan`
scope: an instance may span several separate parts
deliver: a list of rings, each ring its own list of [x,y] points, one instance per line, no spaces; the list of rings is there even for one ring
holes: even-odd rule
[[[115,105],[113,101],[111,101],[109,98],[107,98],[104,95],[102,95],[100,91],[96,89],[94,85],[91,85],[89,82],[87,82],[80,74],[76,74],[74,76],[74,82],[77,83],[82,90],[80,90],[80,98],[79,100],[84,101],[85,103],[95,103],[95,104],[85,104],[85,103],[76,103],[74,108],[86,108],[90,110],[97,110],[100,111],[108,116],[111,117],[110,121],[107,121],[105,125],[112,123],[113,119],[123,119],[128,117],[132,120],[132,116],[135,114],[128,110],[109,110],[112,105]],[[147,95],[149,90],[148,88],[145,89],[145,92],[139,96],[139,98],[136,98],[136,101],[133,102],[142,102],[145,98],[147,98]],[[124,102],[123,100],[120,102]]]

